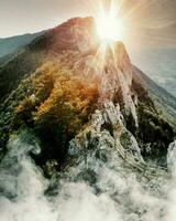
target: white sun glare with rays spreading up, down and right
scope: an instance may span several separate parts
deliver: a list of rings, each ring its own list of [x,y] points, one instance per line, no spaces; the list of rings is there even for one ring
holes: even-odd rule
[[[141,9],[150,7],[152,3],[154,3],[153,0],[140,1],[127,12],[123,11],[123,4],[125,3],[125,0],[110,0],[109,4],[106,4],[103,0],[98,0],[96,2],[95,21],[97,27],[99,46],[90,66],[94,66],[96,62],[99,62],[101,70],[105,67],[105,60],[108,48],[109,50],[111,50],[112,59],[117,65],[117,51],[114,49],[117,41],[122,41],[127,45],[130,45],[132,43],[136,45],[136,42],[139,41],[139,46],[142,46],[142,43],[145,41],[147,41],[148,43],[176,43],[176,40],[174,38],[157,36],[155,33],[142,33],[142,27],[136,27],[135,23],[132,27],[127,25],[131,15],[135,14],[135,12]],[[124,23],[125,21],[127,23]]]

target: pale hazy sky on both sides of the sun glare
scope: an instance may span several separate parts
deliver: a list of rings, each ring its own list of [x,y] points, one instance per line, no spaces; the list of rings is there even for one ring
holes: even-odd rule
[[[0,38],[33,33],[73,17],[95,15],[100,0],[0,0]],[[109,1],[109,0],[102,0]],[[176,45],[176,0],[114,0],[131,41]]]

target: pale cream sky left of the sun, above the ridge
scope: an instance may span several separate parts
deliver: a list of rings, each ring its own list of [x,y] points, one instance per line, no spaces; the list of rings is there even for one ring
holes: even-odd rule
[[[0,38],[36,32],[90,13],[84,0],[0,0]]]

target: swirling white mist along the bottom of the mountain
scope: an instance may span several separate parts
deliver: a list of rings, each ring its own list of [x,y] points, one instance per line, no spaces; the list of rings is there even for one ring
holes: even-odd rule
[[[13,136],[8,148],[0,166],[1,221],[176,220],[176,144],[168,149],[170,173],[150,179],[125,167],[116,149],[102,148],[47,180],[30,157],[40,151],[34,137]]]

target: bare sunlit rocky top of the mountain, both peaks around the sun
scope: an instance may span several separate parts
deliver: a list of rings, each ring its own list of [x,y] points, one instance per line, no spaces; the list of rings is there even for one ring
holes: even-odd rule
[[[122,42],[102,43],[92,18],[70,19],[48,30],[32,45],[35,45],[34,50],[42,45],[47,54],[64,61],[78,75],[97,78],[100,101],[117,99],[138,125],[134,104],[138,99],[132,92],[133,67],[125,46]]]

